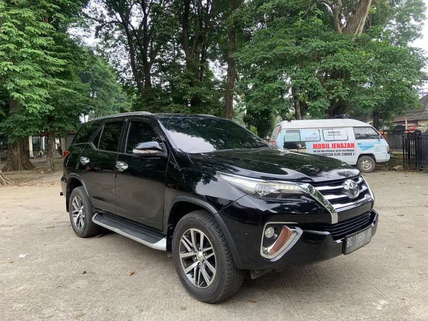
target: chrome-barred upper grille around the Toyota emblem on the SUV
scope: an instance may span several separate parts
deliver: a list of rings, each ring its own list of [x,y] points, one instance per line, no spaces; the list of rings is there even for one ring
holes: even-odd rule
[[[356,198],[349,197],[344,190],[344,183],[348,179],[334,182],[312,183],[312,186],[327,199],[336,211],[343,210],[345,207],[358,206],[366,200],[371,199],[370,190],[363,177],[351,178],[360,188],[360,194]]]

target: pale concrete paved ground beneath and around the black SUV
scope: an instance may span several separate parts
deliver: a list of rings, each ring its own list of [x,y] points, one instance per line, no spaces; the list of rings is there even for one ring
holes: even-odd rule
[[[75,236],[58,176],[0,188],[0,319],[428,320],[428,174],[367,178],[381,215],[370,245],[247,280],[218,305],[190,297],[162,252]]]

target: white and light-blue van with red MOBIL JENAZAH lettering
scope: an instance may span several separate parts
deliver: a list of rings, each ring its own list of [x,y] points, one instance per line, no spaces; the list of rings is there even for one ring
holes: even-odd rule
[[[337,158],[365,173],[390,158],[382,135],[373,126],[354,119],[281,121],[275,125],[269,144]]]

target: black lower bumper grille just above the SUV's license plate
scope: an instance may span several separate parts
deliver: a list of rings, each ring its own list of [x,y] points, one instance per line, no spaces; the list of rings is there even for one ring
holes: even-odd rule
[[[346,235],[358,232],[372,223],[372,214],[365,213],[359,216],[349,218],[336,224],[304,224],[300,225],[302,229],[314,231],[326,231],[333,236],[334,240],[342,239]]]

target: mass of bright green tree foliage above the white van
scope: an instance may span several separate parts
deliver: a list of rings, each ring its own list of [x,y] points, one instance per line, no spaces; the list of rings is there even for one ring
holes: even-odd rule
[[[292,87],[313,118],[349,110],[390,118],[417,108],[415,87],[425,77],[426,58],[407,43],[420,36],[423,3],[377,7],[371,16],[373,22],[381,16],[378,25],[354,36],[339,34],[330,14],[310,3],[249,2],[240,14],[253,26],[244,29],[250,30],[250,41],[236,56],[247,114],[256,115],[252,124],[267,111],[287,114]]]

